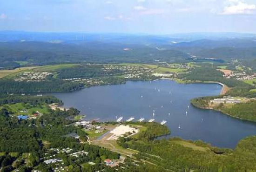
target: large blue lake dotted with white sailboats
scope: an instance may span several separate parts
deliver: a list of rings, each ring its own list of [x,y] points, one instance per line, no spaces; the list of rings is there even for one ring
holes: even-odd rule
[[[95,86],[71,93],[52,93],[87,115],[87,119],[115,121],[134,117],[166,120],[171,136],[203,140],[213,146],[235,148],[239,140],[256,135],[256,123],[231,118],[221,112],[191,106],[190,100],[218,95],[218,84],[178,84],[171,80],[129,81],[123,85]],[[186,113],[187,112],[187,113]],[[180,126],[180,127],[179,127]]]

